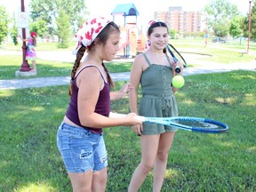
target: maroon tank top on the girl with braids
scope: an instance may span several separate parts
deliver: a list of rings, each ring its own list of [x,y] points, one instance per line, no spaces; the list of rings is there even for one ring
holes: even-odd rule
[[[91,67],[97,68],[96,66],[86,66],[85,68],[91,68]],[[84,70],[84,68],[81,71],[83,71],[83,70]],[[99,68],[98,68],[98,70],[99,70]],[[77,76],[79,76],[81,71],[79,71]],[[100,73],[100,75],[102,76],[101,73]],[[76,84],[76,77],[74,78],[73,92],[72,92],[72,95],[69,100],[69,105],[68,105],[68,110],[66,112],[66,116],[74,124],[77,124],[86,129],[90,129],[92,132],[101,133],[102,128],[100,128],[100,127],[99,128],[85,127],[80,122],[80,119],[78,116],[78,108],[77,108],[77,96],[78,96],[79,88],[77,87],[77,84]],[[102,78],[103,78],[103,76],[102,76]],[[104,78],[103,78],[103,80],[104,80]],[[106,83],[105,81],[104,81],[104,87],[100,91],[99,99],[97,101],[94,112],[98,113],[102,116],[109,116],[109,113],[110,113],[110,84]]]

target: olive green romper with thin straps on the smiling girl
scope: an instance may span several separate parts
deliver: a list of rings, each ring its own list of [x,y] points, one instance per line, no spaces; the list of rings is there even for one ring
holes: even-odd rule
[[[140,116],[170,117],[178,116],[178,107],[172,92],[172,63],[167,57],[170,67],[151,64],[145,53],[148,68],[142,72],[140,85],[142,97],[140,100]],[[143,123],[144,135],[177,132],[177,129],[163,124]]]

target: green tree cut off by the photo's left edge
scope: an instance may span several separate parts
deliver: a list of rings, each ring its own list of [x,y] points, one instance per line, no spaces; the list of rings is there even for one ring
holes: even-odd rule
[[[0,44],[4,41],[4,38],[8,34],[8,13],[3,5],[0,5]]]

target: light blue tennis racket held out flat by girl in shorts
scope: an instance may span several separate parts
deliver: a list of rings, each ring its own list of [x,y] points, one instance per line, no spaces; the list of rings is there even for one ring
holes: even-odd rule
[[[112,113],[110,117],[124,117],[124,114]],[[152,124],[164,124],[181,130],[202,133],[223,133],[228,131],[228,125],[212,119],[192,116],[146,117],[136,116],[140,121]]]

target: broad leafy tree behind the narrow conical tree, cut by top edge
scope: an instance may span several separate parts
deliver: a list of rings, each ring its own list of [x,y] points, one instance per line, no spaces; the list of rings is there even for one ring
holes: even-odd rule
[[[86,15],[84,0],[31,0],[30,7],[32,20],[44,20],[49,34],[55,32],[55,21],[60,16],[60,10],[65,10],[73,31],[78,29]]]

